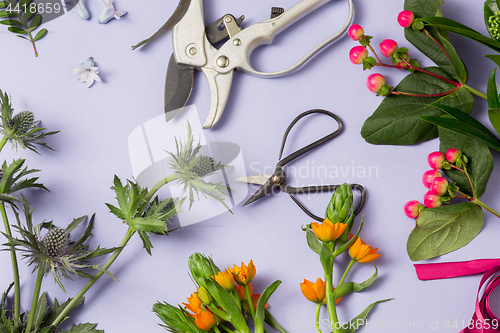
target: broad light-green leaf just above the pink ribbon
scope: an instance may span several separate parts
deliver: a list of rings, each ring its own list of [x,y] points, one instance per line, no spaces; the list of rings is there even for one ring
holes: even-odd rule
[[[455,251],[476,237],[483,222],[483,210],[471,202],[426,208],[408,237],[408,255],[416,261]]]

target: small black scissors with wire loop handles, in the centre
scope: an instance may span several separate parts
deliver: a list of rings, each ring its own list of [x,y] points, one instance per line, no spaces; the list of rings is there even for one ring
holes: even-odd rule
[[[283,155],[283,150],[285,148],[285,143],[286,139],[288,137],[288,134],[290,133],[290,130],[292,127],[297,124],[297,122],[310,115],[310,114],[325,114],[333,119],[338,124],[338,128],[335,132],[330,133],[329,135],[305,146],[302,149],[297,150],[293,154],[281,159]],[[267,196],[268,194],[272,193],[274,189],[279,188],[281,191],[287,193],[290,198],[292,198],[293,201],[311,218],[317,220],[317,221],[323,221],[324,218],[321,218],[319,216],[314,215],[311,213],[304,205],[294,196],[294,194],[307,194],[307,193],[321,193],[321,192],[333,192],[335,191],[340,185],[321,185],[321,186],[305,186],[305,187],[292,187],[287,185],[286,183],[286,173],[283,170],[283,167],[290,161],[293,161],[297,157],[302,156],[303,154],[307,153],[310,150],[313,150],[314,148],[317,148],[318,146],[321,146],[322,144],[330,141],[337,135],[339,135],[342,132],[342,129],[344,128],[344,125],[342,123],[342,120],[335,114],[333,114],[330,111],[326,110],[321,110],[321,109],[314,109],[314,110],[309,110],[306,112],[301,113],[298,115],[288,126],[288,128],[285,131],[285,135],[283,136],[283,141],[281,143],[281,150],[278,159],[280,160],[278,164],[276,164],[276,169],[274,170],[274,174],[272,175],[254,175],[254,176],[247,176],[247,177],[242,177],[236,179],[237,181],[241,182],[246,182],[250,184],[257,184],[261,185],[261,187],[255,192],[250,199],[247,200],[243,204],[243,206],[246,206],[262,197]],[[351,184],[352,189],[357,189],[361,193],[361,200],[359,202],[358,208],[354,212],[355,215],[357,215],[361,209],[363,209],[363,206],[365,204],[365,189],[363,186],[359,184]]]

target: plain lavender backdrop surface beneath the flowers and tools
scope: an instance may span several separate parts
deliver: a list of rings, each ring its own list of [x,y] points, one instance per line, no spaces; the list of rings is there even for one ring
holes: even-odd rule
[[[109,214],[104,203],[115,201],[109,189],[114,174],[122,179],[132,177],[129,134],[163,112],[171,33],[140,50],[131,51],[130,46],[154,33],[174,11],[177,2],[115,0],[116,8],[128,14],[107,25],[97,23],[103,9],[100,1],[86,0],[86,3],[92,15],[90,21],[68,13],[45,25],[49,34],[37,43],[38,58],[33,56],[29,43],[16,38],[5,27],[0,29],[0,88],[12,95],[16,111],[32,110],[36,118],[43,120],[42,126],[61,130],[48,140],[55,152],[42,149],[39,156],[16,152],[7,146],[1,160],[22,157],[31,168],[43,170],[39,173],[40,181],[50,192],[26,193],[36,209],[36,222],[53,220],[56,225],[66,225],[73,218],[96,213],[95,236],[90,246],[112,247],[120,242],[127,227]],[[205,1],[205,22],[213,22],[226,13],[244,14],[243,26],[249,26],[267,19],[271,6],[290,8],[295,3],[297,0]],[[400,47],[409,47],[412,58],[420,59],[422,66],[432,65],[404,39],[403,29],[396,22],[402,9],[403,1],[355,0],[353,23],[362,25],[366,34],[374,36],[374,45],[392,38]],[[442,9],[446,17],[486,34],[481,1],[450,0]],[[272,46],[257,50],[253,64],[269,71],[288,67],[306,50],[337,31],[346,15],[347,2],[328,3],[276,38]],[[468,66],[468,84],[485,91],[494,64],[481,55],[492,52],[465,38],[454,35],[451,38]],[[297,160],[294,164],[297,175],[289,181],[294,185],[359,182],[368,191],[363,239],[379,247],[382,253],[377,260],[380,277],[363,293],[342,300],[341,320],[356,316],[371,302],[394,298],[378,305],[368,318],[371,329],[365,327],[360,332],[457,332],[462,321],[467,322],[472,316],[480,277],[421,282],[406,254],[406,239],[413,221],[404,216],[402,207],[406,201],[421,199],[425,193],[420,177],[428,169],[426,156],[438,149],[438,141],[402,147],[365,143],[359,135],[361,126],[382,98],[365,88],[370,73],[349,62],[348,52],[355,45],[344,36],[288,77],[261,79],[236,73],[223,119],[214,129],[204,131],[205,138],[209,142],[238,144],[248,174],[261,173],[265,168],[268,172],[277,161],[282,134],[297,114],[324,108],[339,115],[345,123],[342,135]],[[89,56],[100,67],[103,83],[97,82],[87,89],[76,82],[70,69]],[[390,69],[377,71],[386,75],[390,85],[396,85],[406,75]],[[189,103],[196,106],[203,122],[210,93],[200,72],[195,75]],[[477,99],[473,114],[489,123],[486,109],[486,102]],[[309,119],[292,133],[286,152],[329,131],[323,118]],[[498,153],[493,156],[499,162]],[[328,168],[328,177],[318,174],[321,167]],[[365,177],[360,173],[363,168]],[[498,181],[495,168],[483,197],[497,208]],[[249,187],[249,193],[256,189]],[[328,199],[328,195],[303,198],[317,214],[323,212]],[[307,247],[300,228],[310,219],[283,194],[247,207],[239,205],[233,213],[182,228],[168,238],[153,236],[152,257],[142,249],[140,239],[134,237],[111,268],[120,282],[103,277],[87,293],[85,304],[73,311],[72,320],[99,323],[98,328],[109,333],[163,332],[151,307],[156,301],[185,302],[194,291],[187,274],[187,259],[194,252],[203,252],[212,255],[221,268],[253,259],[257,267],[253,282],[256,292],[262,292],[276,279],[282,280],[269,301],[270,311],[289,332],[311,332],[315,306],[303,298],[299,288],[304,278],[316,280],[322,276],[319,258]],[[498,220],[485,213],[484,229],[475,240],[432,262],[490,258],[498,253]],[[337,264],[345,267],[347,260],[338,260]],[[8,252],[0,252],[0,265],[0,289],[4,290],[12,280]],[[359,265],[353,269],[351,278],[362,281],[372,270],[369,265]],[[336,271],[337,279],[342,271]],[[35,276],[30,274],[31,269],[21,264],[24,306],[31,301]],[[73,296],[84,283],[82,279],[66,283],[65,295],[48,278],[43,289],[50,298],[63,300]],[[494,296],[498,296],[497,291]],[[497,313],[498,305],[493,305]],[[326,311],[322,313],[322,319],[325,318]],[[452,327],[455,321],[458,328]]]

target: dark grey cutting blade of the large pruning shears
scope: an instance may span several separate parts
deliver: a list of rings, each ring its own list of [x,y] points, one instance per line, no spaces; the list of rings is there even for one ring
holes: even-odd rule
[[[193,91],[194,68],[182,66],[172,53],[165,79],[165,120],[170,121],[184,106]]]

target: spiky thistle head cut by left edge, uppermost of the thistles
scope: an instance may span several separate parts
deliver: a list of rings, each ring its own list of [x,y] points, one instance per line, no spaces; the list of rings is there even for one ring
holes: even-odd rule
[[[44,132],[46,128],[36,127],[39,121],[36,121],[31,111],[22,111],[14,115],[14,109],[7,93],[0,90],[0,135],[3,139],[0,141],[0,150],[3,145],[10,141],[14,148],[24,148],[38,153],[35,145],[50,148],[43,138],[47,135],[53,135],[55,132]]]

